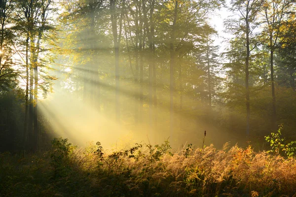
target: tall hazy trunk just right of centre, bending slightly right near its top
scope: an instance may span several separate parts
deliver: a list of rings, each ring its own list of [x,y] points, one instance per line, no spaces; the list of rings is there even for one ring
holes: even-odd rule
[[[172,34],[170,41],[170,136],[173,139],[174,135],[174,91],[175,91],[175,77],[174,77],[174,66],[175,66],[175,31],[177,23],[177,14],[178,14],[178,0],[175,0],[175,10],[174,10],[174,22],[172,26]]]

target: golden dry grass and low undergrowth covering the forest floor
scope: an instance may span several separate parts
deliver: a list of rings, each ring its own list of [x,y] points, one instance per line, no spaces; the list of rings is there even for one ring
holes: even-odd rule
[[[213,145],[105,151],[55,138],[46,152],[0,153],[1,197],[296,197],[296,159]]]

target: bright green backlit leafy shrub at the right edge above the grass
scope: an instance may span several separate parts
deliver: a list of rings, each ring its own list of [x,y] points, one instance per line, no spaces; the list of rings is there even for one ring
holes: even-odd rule
[[[285,144],[285,137],[281,138],[283,125],[280,125],[277,132],[272,132],[271,135],[264,136],[265,141],[270,143],[271,150],[267,151],[269,153],[273,153],[274,155],[280,155],[284,153],[288,158],[294,157],[296,153],[296,141],[291,141],[288,144]]]

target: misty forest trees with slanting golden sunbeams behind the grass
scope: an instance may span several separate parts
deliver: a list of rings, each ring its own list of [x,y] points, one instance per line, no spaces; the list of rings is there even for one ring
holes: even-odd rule
[[[282,123],[296,136],[292,1],[0,4],[0,150],[37,150],[51,135],[111,144],[127,133],[126,142],[201,145],[205,130],[206,143],[262,147]],[[211,21],[222,6],[233,16],[220,48]]]

